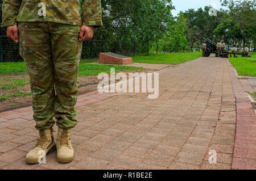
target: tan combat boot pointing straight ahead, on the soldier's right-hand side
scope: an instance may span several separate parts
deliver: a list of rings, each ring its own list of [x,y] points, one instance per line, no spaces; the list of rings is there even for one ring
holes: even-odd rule
[[[71,145],[71,129],[59,128],[57,136],[57,161],[60,163],[71,162],[74,158],[74,150]]]

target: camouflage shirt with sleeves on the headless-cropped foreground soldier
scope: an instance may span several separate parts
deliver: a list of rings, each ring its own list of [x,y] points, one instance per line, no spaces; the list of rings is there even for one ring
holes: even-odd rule
[[[16,22],[102,26],[101,0],[84,0],[82,10],[80,0],[3,0],[2,15],[3,27]]]

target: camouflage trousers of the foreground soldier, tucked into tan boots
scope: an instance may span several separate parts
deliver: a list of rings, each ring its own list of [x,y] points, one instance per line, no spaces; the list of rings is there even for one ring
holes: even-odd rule
[[[19,22],[18,27],[36,128],[53,127],[53,117],[60,128],[75,127],[80,27],[52,22]]]

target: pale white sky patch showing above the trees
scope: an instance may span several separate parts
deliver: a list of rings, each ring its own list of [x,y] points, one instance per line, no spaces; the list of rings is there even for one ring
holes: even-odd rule
[[[213,7],[215,6],[217,10],[221,9],[220,0],[172,0],[172,5],[174,5],[176,9],[172,10],[172,15],[176,16],[180,11],[188,9],[197,10],[200,7],[204,9],[204,6],[209,6],[210,4],[213,4]]]

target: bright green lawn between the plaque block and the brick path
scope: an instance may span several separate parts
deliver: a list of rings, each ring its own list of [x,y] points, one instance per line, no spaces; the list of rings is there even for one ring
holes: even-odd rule
[[[194,60],[202,57],[202,52],[189,53],[159,53],[150,54],[149,56],[133,57],[133,62],[147,63],[147,64],[172,64],[178,65],[183,62]]]

